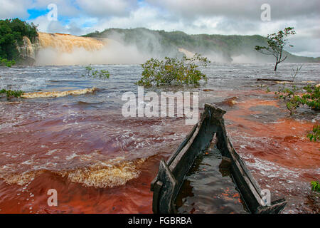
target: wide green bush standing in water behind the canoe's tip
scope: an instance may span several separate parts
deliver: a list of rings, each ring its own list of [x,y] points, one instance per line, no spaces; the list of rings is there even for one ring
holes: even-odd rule
[[[163,86],[170,84],[198,85],[201,79],[207,81],[204,73],[198,70],[198,65],[207,67],[208,58],[196,53],[192,58],[183,56],[178,58],[165,57],[163,61],[151,58],[142,64],[144,71],[142,78],[137,82],[139,86]]]

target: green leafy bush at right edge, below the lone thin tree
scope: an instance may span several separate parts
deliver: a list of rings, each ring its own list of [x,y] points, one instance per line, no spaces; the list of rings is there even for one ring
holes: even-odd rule
[[[285,85],[279,88],[274,94],[281,100],[288,100],[286,106],[290,115],[294,113],[300,105],[307,105],[314,110],[320,110],[320,86],[307,85],[302,88],[292,86],[286,88]]]

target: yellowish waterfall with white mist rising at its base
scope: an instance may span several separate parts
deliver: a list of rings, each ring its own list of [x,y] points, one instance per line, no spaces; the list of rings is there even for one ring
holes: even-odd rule
[[[135,64],[147,59],[135,46],[110,38],[95,39],[61,33],[39,33],[37,66],[86,64]]]

